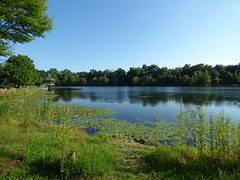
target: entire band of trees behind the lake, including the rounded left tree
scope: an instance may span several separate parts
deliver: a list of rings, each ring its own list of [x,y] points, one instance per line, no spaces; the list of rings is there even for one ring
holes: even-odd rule
[[[22,66],[19,67],[18,65]],[[239,86],[240,64],[216,65],[197,64],[167,68],[157,65],[130,67],[90,72],[37,70],[28,56],[11,56],[0,63],[0,87],[21,85],[42,85],[51,75],[56,86]]]

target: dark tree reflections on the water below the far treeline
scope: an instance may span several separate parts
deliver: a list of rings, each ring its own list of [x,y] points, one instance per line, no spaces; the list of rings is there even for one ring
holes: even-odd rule
[[[178,89],[179,90],[179,89]],[[202,93],[201,93],[202,92]],[[72,99],[90,99],[92,102],[106,102],[106,103],[122,103],[130,102],[130,104],[142,104],[143,106],[156,106],[159,103],[168,103],[169,101],[180,102],[181,98],[183,103],[188,104],[204,104],[204,105],[216,105],[222,106],[226,104],[227,106],[234,105],[234,102],[240,104],[240,92],[231,91],[229,92],[216,90],[212,91],[186,91],[182,89],[181,91],[156,91],[154,89],[144,89],[144,88],[129,88],[124,89],[124,87],[112,87],[112,89],[93,89],[90,91],[74,89],[74,88],[55,88],[55,94],[59,97],[55,98],[55,101],[62,99],[65,102],[70,102]],[[236,104],[235,104],[236,105]]]

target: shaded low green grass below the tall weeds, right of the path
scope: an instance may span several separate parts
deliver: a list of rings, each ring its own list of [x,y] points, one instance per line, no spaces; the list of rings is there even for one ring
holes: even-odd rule
[[[239,161],[233,157],[211,157],[194,148],[159,146],[145,156],[148,171],[170,179],[239,179]]]

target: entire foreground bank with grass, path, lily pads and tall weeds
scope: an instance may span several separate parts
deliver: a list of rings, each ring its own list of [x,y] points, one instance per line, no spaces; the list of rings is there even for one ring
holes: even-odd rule
[[[36,87],[0,93],[0,178],[240,179],[240,123],[179,106],[174,123],[130,123]]]

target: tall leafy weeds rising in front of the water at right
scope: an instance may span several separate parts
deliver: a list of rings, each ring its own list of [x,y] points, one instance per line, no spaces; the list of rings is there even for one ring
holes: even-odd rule
[[[183,106],[183,105],[181,105]],[[239,144],[237,127],[239,123],[231,122],[230,117],[222,110],[219,114],[209,115],[202,107],[193,108],[186,105],[177,115],[175,131],[176,138],[181,145],[192,147],[192,143],[199,153],[210,150],[212,157],[221,158],[229,154],[238,156],[236,144]],[[184,113],[182,113],[184,112]],[[231,153],[230,153],[231,152]]]

